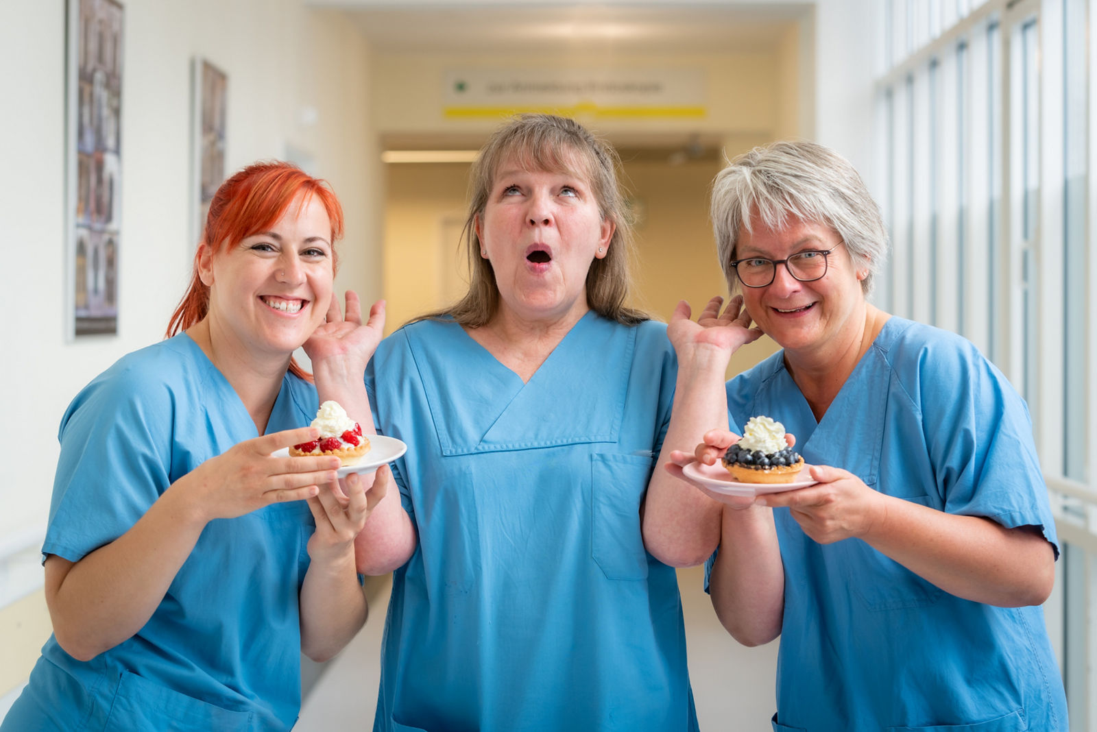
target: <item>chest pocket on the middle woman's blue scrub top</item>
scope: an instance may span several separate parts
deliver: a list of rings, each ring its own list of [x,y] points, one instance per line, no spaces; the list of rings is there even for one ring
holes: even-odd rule
[[[652,465],[646,456],[590,456],[590,556],[609,580],[647,579],[640,502]]]

